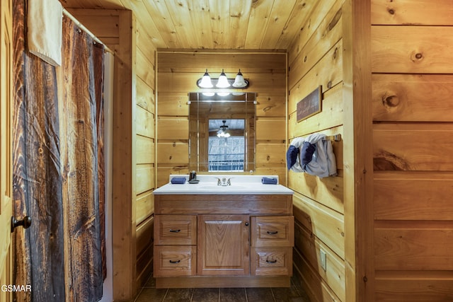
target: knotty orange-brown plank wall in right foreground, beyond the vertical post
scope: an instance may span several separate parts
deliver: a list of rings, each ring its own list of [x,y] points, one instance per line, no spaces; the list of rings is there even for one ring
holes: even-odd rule
[[[376,301],[453,301],[452,1],[371,2]]]

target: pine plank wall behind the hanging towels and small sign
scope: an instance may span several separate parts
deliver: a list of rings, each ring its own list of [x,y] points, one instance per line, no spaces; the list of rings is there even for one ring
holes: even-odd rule
[[[289,48],[289,142],[312,133],[343,136],[342,6],[342,0],[318,1]],[[322,111],[297,122],[297,103],[320,85]],[[333,151],[336,177],[288,173],[296,220],[294,266],[312,301],[347,301],[343,141],[333,142]],[[321,267],[321,250],[326,252],[326,270]]]

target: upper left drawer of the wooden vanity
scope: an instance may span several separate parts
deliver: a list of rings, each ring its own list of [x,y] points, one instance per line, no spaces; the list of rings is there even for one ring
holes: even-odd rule
[[[156,215],[154,216],[155,245],[196,245],[197,216]]]

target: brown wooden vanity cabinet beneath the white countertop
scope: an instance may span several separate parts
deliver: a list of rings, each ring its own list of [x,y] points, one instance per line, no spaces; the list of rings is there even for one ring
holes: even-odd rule
[[[294,216],[289,194],[156,194],[157,288],[287,287]]]

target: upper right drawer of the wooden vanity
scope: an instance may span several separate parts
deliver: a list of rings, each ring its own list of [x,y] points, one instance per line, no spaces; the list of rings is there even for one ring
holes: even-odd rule
[[[294,246],[294,216],[252,216],[251,226],[252,246]]]

